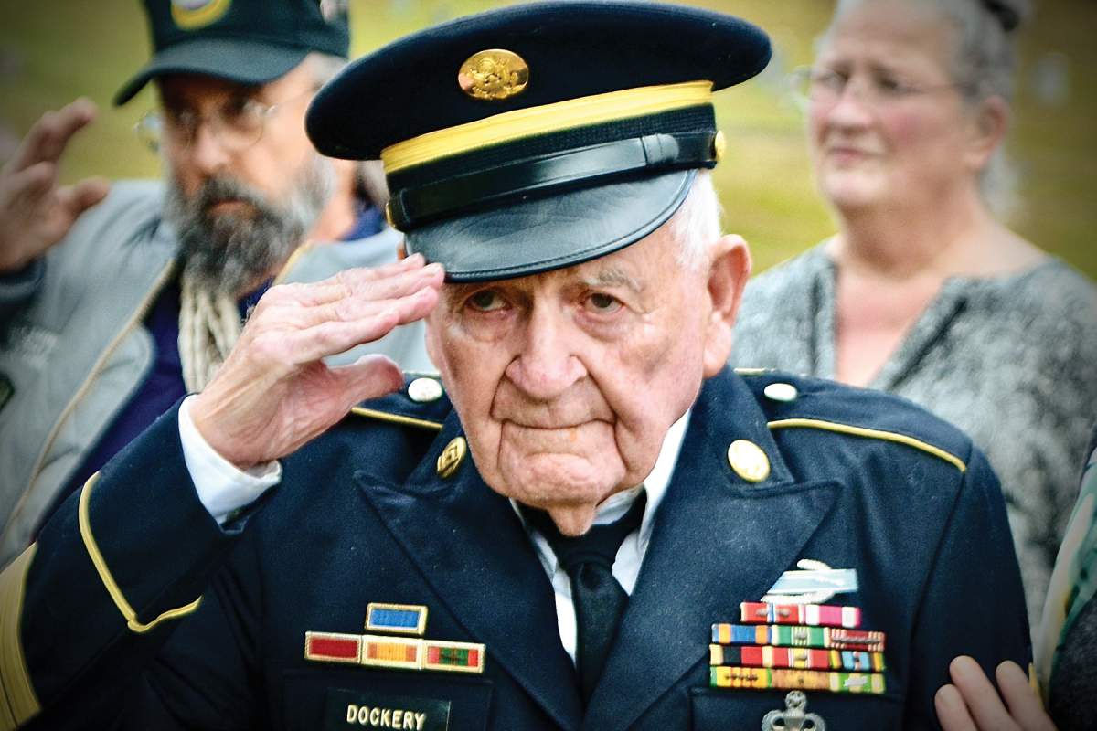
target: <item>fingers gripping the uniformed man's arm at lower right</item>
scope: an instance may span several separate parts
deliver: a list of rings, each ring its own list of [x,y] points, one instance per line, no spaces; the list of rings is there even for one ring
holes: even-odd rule
[[[1055,731],[1017,663],[1006,661],[994,673],[1005,705],[971,658],[954,659],[949,675],[955,685],[942,686],[934,698],[945,731]]]

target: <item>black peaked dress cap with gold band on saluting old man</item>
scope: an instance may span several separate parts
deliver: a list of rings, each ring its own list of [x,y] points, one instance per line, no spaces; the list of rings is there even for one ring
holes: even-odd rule
[[[562,269],[638,241],[723,152],[712,92],[770,58],[701,8],[552,0],[457,19],[351,62],[305,125],[384,162],[389,222],[450,281]]]

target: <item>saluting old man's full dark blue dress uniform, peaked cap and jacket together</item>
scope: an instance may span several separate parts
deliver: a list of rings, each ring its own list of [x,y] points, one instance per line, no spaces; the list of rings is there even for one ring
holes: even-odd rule
[[[306,128],[324,155],[384,161],[391,222],[449,283],[523,277],[659,230],[723,152],[712,91],[769,56],[699,8],[517,5],[354,61]],[[586,703],[531,535],[437,382],[357,409],[224,526],[177,415],[0,579],[8,728],[923,729],[953,656],[1028,664],[996,478],[893,397],[706,379]],[[799,597],[817,603],[803,627],[767,598],[798,572],[837,582]],[[772,625],[744,616],[762,599]],[[840,626],[811,618],[825,606]],[[791,643],[792,666],[736,659],[744,627],[742,654]]]

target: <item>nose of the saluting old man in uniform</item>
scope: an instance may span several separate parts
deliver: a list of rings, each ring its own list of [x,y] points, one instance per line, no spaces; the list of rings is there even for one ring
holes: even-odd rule
[[[534,307],[523,347],[507,366],[507,377],[528,396],[550,400],[587,376],[575,352],[581,333],[564,312]]]

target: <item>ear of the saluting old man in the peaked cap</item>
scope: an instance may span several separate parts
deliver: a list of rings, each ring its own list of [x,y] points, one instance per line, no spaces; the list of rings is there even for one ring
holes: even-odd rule
[[[709,250],[709,298],[712,309],[704,340],[704,377],[714,376],[732,354],[732,327],[750,276],[750,251],[738,236],[725,236]]]

